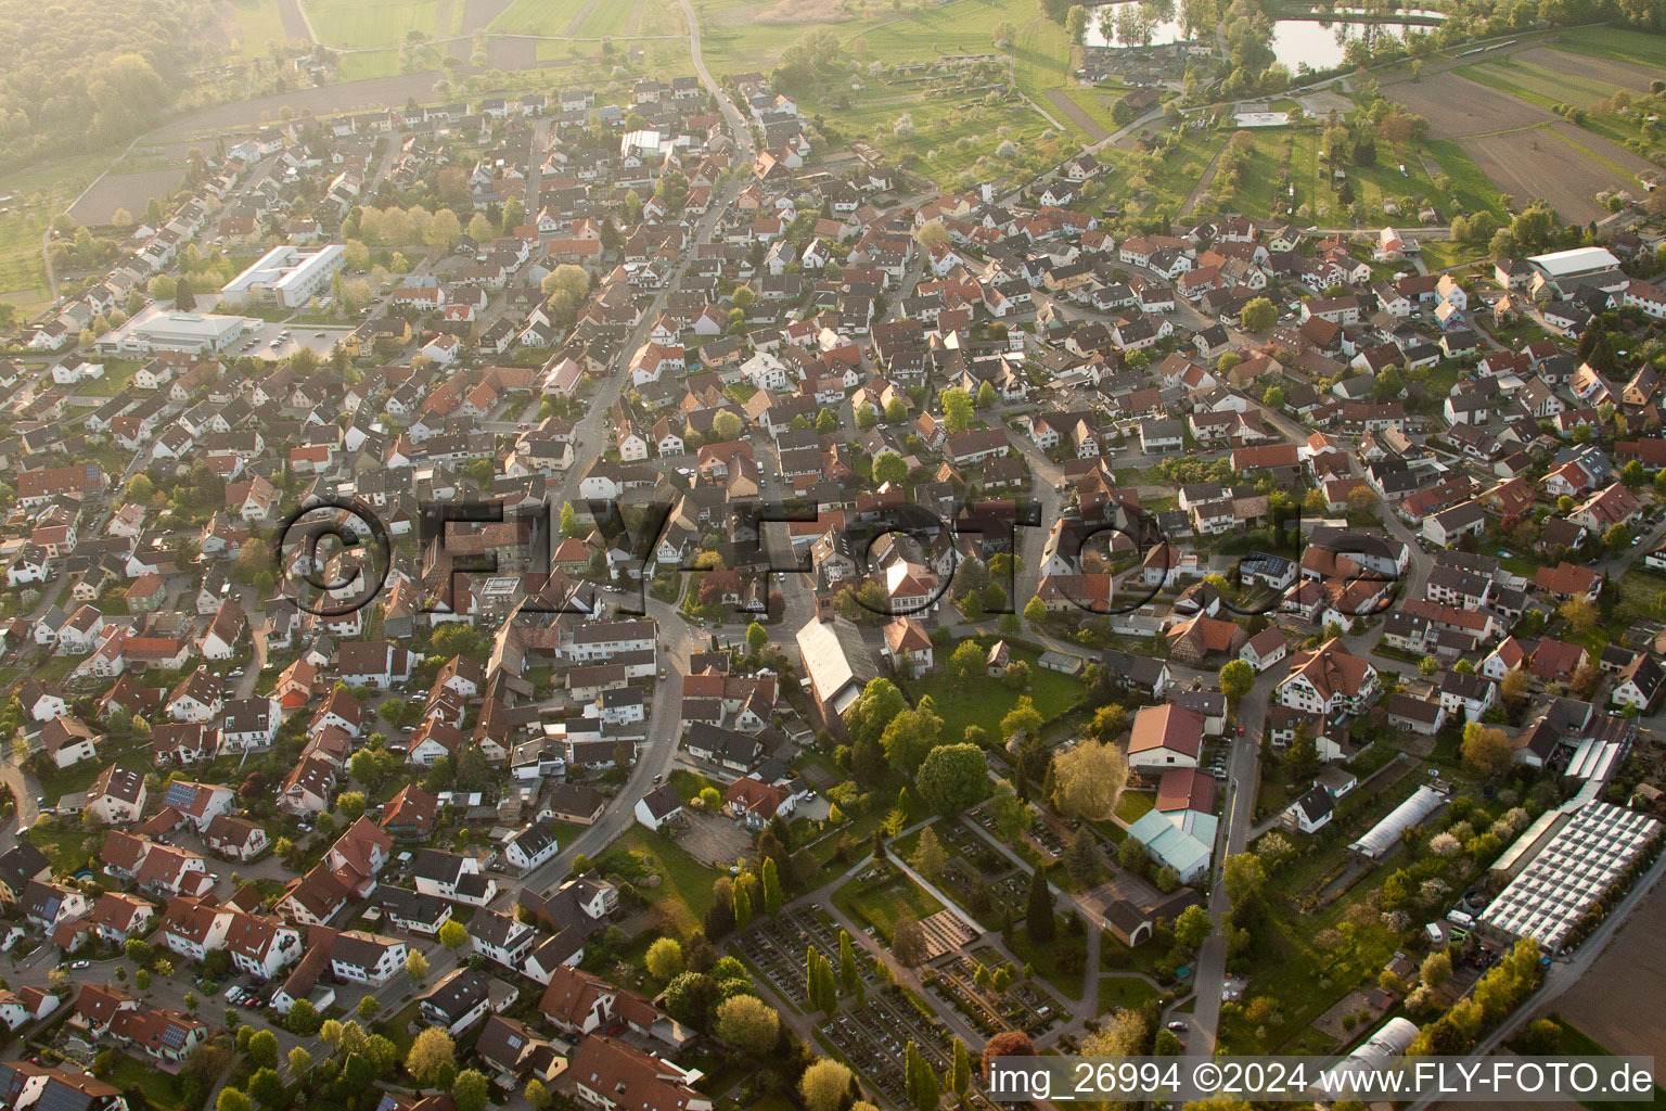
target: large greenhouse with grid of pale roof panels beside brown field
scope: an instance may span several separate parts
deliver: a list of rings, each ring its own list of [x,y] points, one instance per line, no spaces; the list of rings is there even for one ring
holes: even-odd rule
[[[1533,938],[1556,953],[1586,911],[1643,856],[1661,823],[1623,806],[1586,803],[1481,911],[1481,926],[1504,938]],[[1523,838],[1543,836],[1529,828]],[[1516,851],[1513,844],[1504,851]]]

